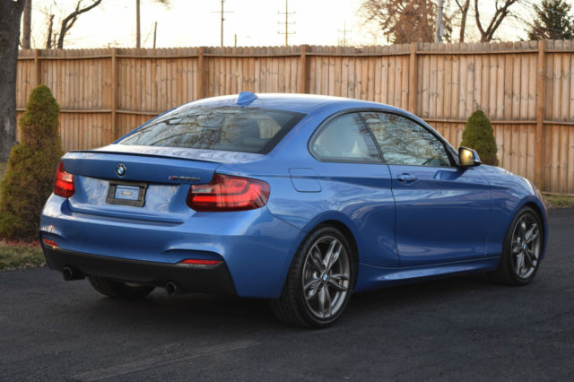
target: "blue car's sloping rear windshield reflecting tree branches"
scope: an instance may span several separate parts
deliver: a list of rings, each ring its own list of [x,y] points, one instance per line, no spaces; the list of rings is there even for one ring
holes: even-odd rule
[[[272,109],[182,108],[152,120],[119,143],[265,154],[304,116]]]

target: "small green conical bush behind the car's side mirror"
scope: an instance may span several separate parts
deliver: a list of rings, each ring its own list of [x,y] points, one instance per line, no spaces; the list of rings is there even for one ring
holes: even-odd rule
[[[474,149],[484,164],[499,165],[499,159],[496,156],[498,149],[494,140],[494,130],[491,121],[486,117],[483,110],[474,111],[466,120],[463,142],[460,145]]]

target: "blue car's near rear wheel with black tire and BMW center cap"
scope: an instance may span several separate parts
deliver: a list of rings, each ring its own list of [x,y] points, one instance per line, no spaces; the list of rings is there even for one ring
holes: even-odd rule
[[[355,254],[343,232],[319,226],[293,257],[281,296],[271,302],[275,316],[289,326],[330,326],[351,298],[355,268]]]

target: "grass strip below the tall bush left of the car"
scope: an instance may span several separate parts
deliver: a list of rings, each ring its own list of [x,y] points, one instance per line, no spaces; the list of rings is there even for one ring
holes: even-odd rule
[[[46,259],[39,242],[0,241],[0,271],[44,266]]]

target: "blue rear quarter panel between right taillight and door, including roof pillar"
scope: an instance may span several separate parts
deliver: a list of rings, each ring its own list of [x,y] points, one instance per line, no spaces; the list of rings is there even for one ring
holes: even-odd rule
[[[271,186],[267,208],[275,217],[305,233],[321,222],[340,221],[351,230],[361,263],[396,267],[395,201],[387,165],[321,162],[309,153],[310,136],[338,111],[325,107],[309,114],[265,160],[224,164],[218,172],[265,180]],[[316,180],[319,191],[296,190],[290,169],[309,174],[302,179]]]

